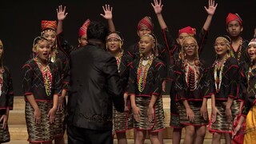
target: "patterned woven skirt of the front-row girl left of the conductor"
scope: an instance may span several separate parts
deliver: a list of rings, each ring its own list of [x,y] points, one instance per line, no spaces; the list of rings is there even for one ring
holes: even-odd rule
[[[54,124],[50,123],[47,117],[49,110],[52,108],[52,102],[37,102],[41,111],[41,122],[37,124],[34,121],[34,108],[30,102],[26,102],[25,118],[26,129],[29,135],[29,142],[52,142],[54,139]]]

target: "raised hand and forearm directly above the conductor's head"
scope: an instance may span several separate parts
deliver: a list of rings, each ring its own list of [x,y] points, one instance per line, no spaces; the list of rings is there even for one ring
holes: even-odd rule
[[[102,6],[102,9],[104,11],[104,14],[100,14],[100,15],[107,20],[110,32],[114,32],[115,27],[113,22],[113,15],[112,15],[113,7],[110,5],[105,5],[105,6]]]

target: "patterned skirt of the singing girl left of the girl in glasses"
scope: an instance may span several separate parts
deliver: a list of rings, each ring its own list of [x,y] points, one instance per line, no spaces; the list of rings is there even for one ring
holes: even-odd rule
[[[151,122],[149,122],[147,116],[150,99],[150,97],[135,97],[136,106],[138,106],[141,114],[139,122],[134,120],[134,128],[138,130],[151,130],[151,132],[157,132],[165,128],[162,96],[158,97],[157,101],[154,103],[154,118]]]

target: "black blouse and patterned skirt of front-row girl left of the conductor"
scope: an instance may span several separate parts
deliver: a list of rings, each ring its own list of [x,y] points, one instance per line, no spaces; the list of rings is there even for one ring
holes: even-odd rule
[[[49,63],[46,68],[36,59],[30,59],[22,66],[22,89],[25,95],[25,117],[29,142],[51,142],[54,139],[54,123],[47,116],[53,106],[54,94],[61,94],[61,79],[58,68]],[[34,108],[26,95],[34,95],[41,112],[41,122],[34,121]]]

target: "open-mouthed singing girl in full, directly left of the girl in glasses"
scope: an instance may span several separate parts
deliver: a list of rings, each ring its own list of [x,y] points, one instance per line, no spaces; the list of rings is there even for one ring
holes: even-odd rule
[[[135,143],[143,143],[146,131],[150,141],[160,143],[158,132],[165,128],[162,107],[162,81],[166,78],[165,65],[155,57],[156,38],[142,35],[138,42],[141,58],[130,67],[129,94],[134,113]]]

